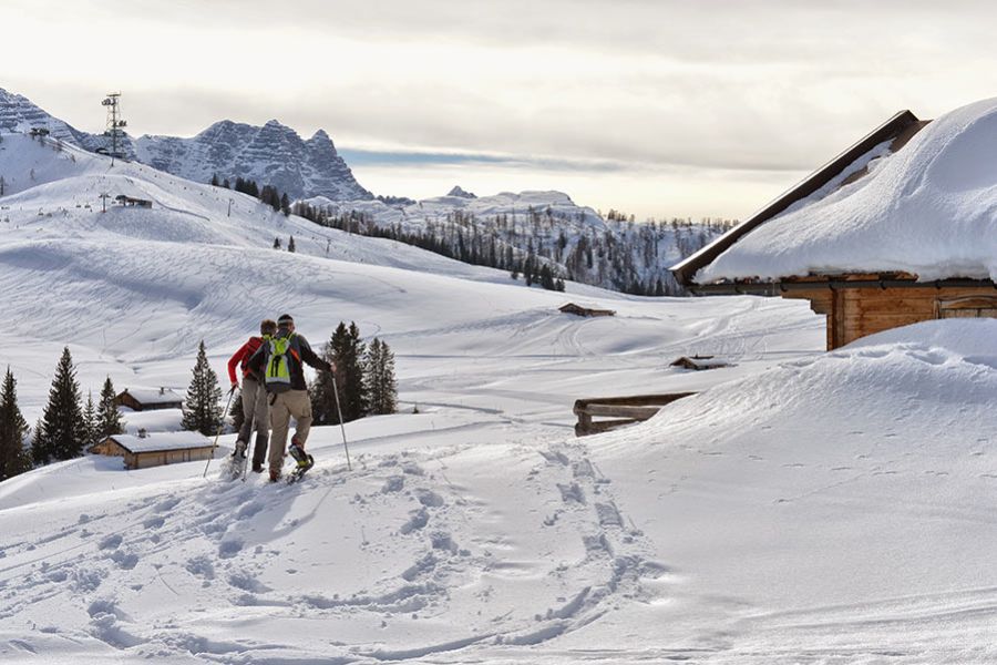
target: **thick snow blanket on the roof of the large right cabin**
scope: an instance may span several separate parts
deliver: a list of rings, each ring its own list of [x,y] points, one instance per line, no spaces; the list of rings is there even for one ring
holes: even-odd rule
[[[997,279],[997,99],[947,113],[867,174],[824,187],[737,239],[698,284],[908,273]]]

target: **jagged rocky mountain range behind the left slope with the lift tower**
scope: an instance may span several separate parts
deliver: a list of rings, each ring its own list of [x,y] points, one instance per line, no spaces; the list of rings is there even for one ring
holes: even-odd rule
[[[0,89],[0,131],[32,127],[44,127],[50,135],[85,150],[110,147],[106,136],[82,132],[28,98]],[[276,120],[261,127],[224,120],[191,139],[125,135],[119,150],[127,158],[197,182],[208,182],[214,175],[230,181],[241,177],[260,186],[273,185],[291,200],[373,198],[353,177],[325,131],[306,141]]]

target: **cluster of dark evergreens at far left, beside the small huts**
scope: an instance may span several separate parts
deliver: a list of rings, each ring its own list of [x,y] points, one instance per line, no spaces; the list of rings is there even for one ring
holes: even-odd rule
[[[0,389],[0,480],[28,471],[32,463],[48,464],[80,457],[94,443],[123,432],[114,398],[114,385],[107,377],[100,401],[94,405],[91,395],[86,405],[82,405],[73,358],[69,347],[64,348],[29,452],[24,449],[29,427],[18,406],[17,380],[8,367]]]

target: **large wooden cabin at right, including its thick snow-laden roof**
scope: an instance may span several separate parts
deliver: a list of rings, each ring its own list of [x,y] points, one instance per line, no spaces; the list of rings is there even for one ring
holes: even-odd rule
[[[997,317],[997,100],[902,111],[671,270],[695,294],[805,298],[828,349]]]

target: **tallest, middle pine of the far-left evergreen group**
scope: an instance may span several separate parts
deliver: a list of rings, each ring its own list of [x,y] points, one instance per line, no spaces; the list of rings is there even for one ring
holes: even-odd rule
[[[41,464],[48,464],[53,459],[70,460],[80,457],[85,437],[76,369],[69,347],[65,347],[49,390],[49,403],[45,405],[40,426],[34,432],[31,457]]]

